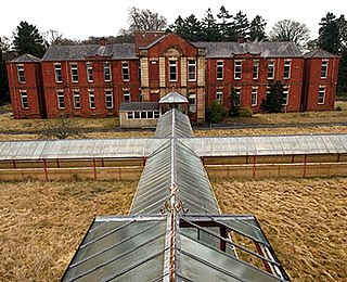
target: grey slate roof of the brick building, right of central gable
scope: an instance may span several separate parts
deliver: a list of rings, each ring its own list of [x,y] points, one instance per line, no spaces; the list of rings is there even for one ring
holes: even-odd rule
[[[194,42],[206,49],[206,57],[232,57],[234,55],[254,54],[261,57],[301,57],[303,53],[294,42]]]

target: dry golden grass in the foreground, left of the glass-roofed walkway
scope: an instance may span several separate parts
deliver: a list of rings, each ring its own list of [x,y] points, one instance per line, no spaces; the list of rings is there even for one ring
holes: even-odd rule
[[[127,214],[136,187],[0,182],[0,281],[59,281],[92,219]]]

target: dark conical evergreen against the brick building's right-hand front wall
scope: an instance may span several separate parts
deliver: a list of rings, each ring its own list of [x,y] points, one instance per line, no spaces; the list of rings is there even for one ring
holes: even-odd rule
[[[261,101],[260,108],[266,113],[281,113],[283,110],[283,82],[270,81],[267,98]]]

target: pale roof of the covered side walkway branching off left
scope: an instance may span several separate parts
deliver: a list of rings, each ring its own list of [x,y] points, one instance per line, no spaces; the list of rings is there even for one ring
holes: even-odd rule
[[[1,141],[0,161],[143,157],[165,141],[149,138]]]

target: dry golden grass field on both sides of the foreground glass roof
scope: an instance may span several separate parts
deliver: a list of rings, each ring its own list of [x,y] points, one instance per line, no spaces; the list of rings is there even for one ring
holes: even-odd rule
[[[347,178],[213,180],[253,214],[293,281],[346,281]],[[59,281],[97,215],[128,213],[137,182],[0,182],[0,281]]]

